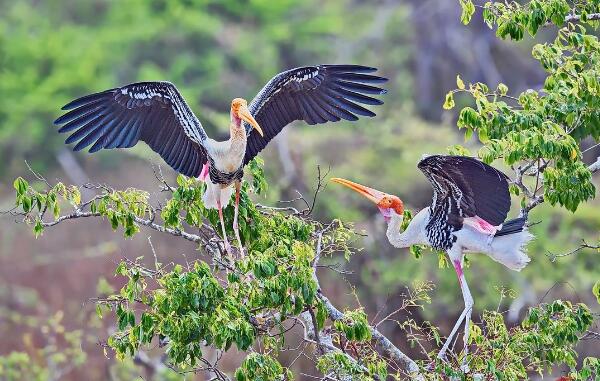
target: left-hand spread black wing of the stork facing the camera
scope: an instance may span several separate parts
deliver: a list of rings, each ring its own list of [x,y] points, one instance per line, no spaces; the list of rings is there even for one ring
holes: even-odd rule
[[[77,142],[74,151],[89,145],[89,152],[128,148],[141,140],[186,176],[198,176],[207,161],[206,133],[169,82],[133,83],[86,95],[62,109],[68,112],[54,124],[62,125],[59,132],[72,132],[65,143]]]

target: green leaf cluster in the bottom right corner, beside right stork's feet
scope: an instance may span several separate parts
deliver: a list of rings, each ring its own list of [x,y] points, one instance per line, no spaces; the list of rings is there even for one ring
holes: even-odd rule
[[[561,300],[530,308],[521,325],[512,329],[502,314],[485,311],[482,324],[471,325],[469,368],[472,374],[494,380],[527,379],[529,372],[542,375],[559,364],[575,374],[575,346],[592,322],[587,306]],[[593,366],[597,359],[586,362]],[[464,377],[448,363],[439,363],[436,369],[449,377]]]

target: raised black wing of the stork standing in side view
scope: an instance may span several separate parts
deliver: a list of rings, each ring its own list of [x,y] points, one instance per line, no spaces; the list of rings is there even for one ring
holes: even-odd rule
[[[461,220],[479,217],[483,225],[498,226],[506,219],[508,177],[499,170],[471,157],[442,155],[426,157],[418,167],[433,186],[434,211],[443,208],[444,214]]]

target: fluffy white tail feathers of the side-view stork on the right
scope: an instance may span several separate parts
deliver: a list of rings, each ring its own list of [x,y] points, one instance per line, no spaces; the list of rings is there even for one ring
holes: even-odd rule
[[[530,258],[525,254],[525,246],[533,239],[533,235],[523,226],[524,222],[518,229],[517,226],[521,223],[520,221],[514,222],[514,225],[509,225],[513,221],[516,220],[509,221],[500,230],[502,232],[506,228],[504,234],[497,233],[494,236],[489,256],[511,270],[521,271],[530,261]],[[508,233],[508,231],[512,232]]]

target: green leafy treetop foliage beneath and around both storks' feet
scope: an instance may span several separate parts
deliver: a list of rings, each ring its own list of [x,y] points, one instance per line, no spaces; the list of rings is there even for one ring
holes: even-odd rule
[[[261,175],[260,171],[254,171],[258,178],[255,183],[261,183]],[[172,234],[181,235],[188,226],[212,228],[216,234],[218,220],[200,201],[204,185],[182,176],[177,182],[178,186],[171,188],[172,198],[160,211],[149,206],[145,192],[131,189],[123,192],[101,189],[101,196],[93,198],[94,202],[82,202],[77,188],[60,184],[46,192],[37,192],[25,180],[17,179],[15,190],[18,205],[27,221],[34,225],[34,231],[40,223],[52,223],[43,219],[40,212],[44,209],[37,206],[37,200],[45,205],[46,200],[53,198],[50,195],[55,194],[70,201],[79,213],[85,213],[80,208],[86,205],[90,210],[95,208],[98,217],[120,216],[117,226],[132,216],[135,228],[126,228],[126,234],[135,234],[138,224],[144,225],[143,219],[157,212],[165,229],[173,229]],[[97,301],[98,315],[104,317],[112,312],[117,322],[117,330],[107,340],[108,347],[118,358],[126,360],[139,350],[159,344],[165,347],[170,366],[187,372],[205,364],[203,346],[222,351],[235,346],[250,352],[236,371],[236,379],[291,379],[290,370],[278,362],[277,354],[284,348],[290,322],[302,313],[311,312],[315,326],[322,334],[328,332],[332,344],[352,348],[356,354],[349,356],[324,346],[324,353],[316,362],[323,374],[356,380],[402,378],[401,372],[390,373],[390,363],[371,346],[372,326],[362,309],[348,310],[333,318],[318,295],[313,276],[317,253],[352,252],[347,246],[352,239],[351,230],[338,223],[322,226],[295,213],[259,209],[249,199],[253,188],[245,183],[242,189],[241,229],[248,256],[232,262],[205,245],[201,248],[213,258],[212,265],[196,259],[187,267],[156,261],[154,267],[147,267],[143,257],[121,262],[115,275],[126,280],[124,286],[119,293]],[[25,207],[30,203],[23,201],[26,198],[35,200],[28,212]],[[49,206],[54,208],[59,207]],[[34,209],[35,217],[31,219]],[[226,215],[231,219],[229,212]],[[406,216],[410,219],[410,212]],[[113,218],[108,220],[113,225]],[[421,308],[431,300],[430,291],[431,286],[416,285],[400,309]],[[507,328],[501,314],[484,312],[481,324],[472,326],[470,369],[483,377],[511,379],[525,378],[531,370],[541,374],[564,363],[570,367],[574,379],[589,378],[597,372],[597,359],[585,359],[584,366],[576,370],[574,347],[592,320],[586,306],[560,300],[531,308],[521,326],[513,329]],[[398,324],[412,343],[440,341],[435,327],[419,326],[412,320]],[[458,366],[460,355],[451,362],[440,362],[434,360],[436,351],[423,354],[429,360],[423,362],[422,369],[431,361],[435,363],[435,372],[424,373],[428,379],[440,379],[440,375],[464,377]],[[6,361],[9,360],[21,361],[19,356]]]

